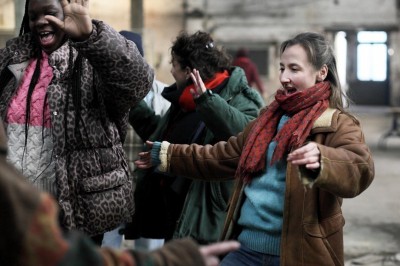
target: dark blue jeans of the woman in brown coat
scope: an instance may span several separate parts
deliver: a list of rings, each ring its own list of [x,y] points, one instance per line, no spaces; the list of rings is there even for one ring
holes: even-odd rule
[[[226,255],[220,266],[279,266],[279,256],[253,251],[241,245]]]

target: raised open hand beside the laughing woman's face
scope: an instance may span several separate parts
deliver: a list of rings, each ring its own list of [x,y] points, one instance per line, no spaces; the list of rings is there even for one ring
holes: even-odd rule
[[[45,18],[63,30],[72,40],[87,40],[92,33],[92,19],[89,16],[89,0],[61,0],[64,10],[64,21],[54,16],[47,15]]]

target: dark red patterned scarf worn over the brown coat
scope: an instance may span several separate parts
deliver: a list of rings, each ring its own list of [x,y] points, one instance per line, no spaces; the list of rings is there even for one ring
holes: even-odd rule
[[[315,120],[328,108],[330,93],[329,82],[320,82],[290,95],[285,95],[284,90],[278,90],[275,101],[257,118],[247,138],[237,174],[247,182],[253,173],[263,170],[267,147],[271,141],[277,142],[271,164],[282,159],[286,151],[300,147]],[[276,134],[279,120],[284,114],[291,118]]]

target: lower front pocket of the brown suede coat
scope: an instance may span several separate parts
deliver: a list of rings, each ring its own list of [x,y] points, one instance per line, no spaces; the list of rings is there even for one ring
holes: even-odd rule
[[[343,265],[343,226],[341,213],[322,220],[320,223],[304,224],[304,265]],[[318,264],[318,263],[317,263]]]

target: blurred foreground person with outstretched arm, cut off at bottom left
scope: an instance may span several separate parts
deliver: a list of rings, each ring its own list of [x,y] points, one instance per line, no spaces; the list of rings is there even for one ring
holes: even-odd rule
[[[54,198],[38,190],[6,160],[7,139],[0,120],[0,265],[4,266],[217,266],[218,256],[237,242],[197,246],[173,241],[151,253],[99,248],[82,232],[63,233]]]

